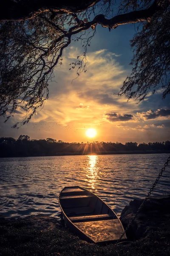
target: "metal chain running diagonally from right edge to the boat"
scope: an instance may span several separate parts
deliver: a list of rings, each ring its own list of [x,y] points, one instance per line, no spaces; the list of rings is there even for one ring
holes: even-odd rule
[[[137,212],[135,213],[133,219],[130,221],[130,223],[127,225],[125,231],[123,232],[123,234],[120,236],[119,240],[117,240],[116,244],[118,244],[118,242],[122,239],[122,237],[125,235],[125,233],[127,232],[127,230],[129,229],[129,227],[131,226],[132,222],[134,221],[134,219],[136,218],[136,216],[138,215],[138,213],[141,211],[142,207],[144,206],[145,202],[147,201],[147,199],[149,198],[151,192],[153,192],[153,189],[156,186],[156,183],[159,181],[160,177],[162,176],[162,173],[164,172],[166,166],[168,165],[168,162],[170,161],[170,156],[167,158],[167,161],[164,163],[164,167],[162,167],[161,172],[159,172],[158,177],[156,178],[155,182],[153,183],[153,186],[151,187],[150,191],[148,192],[146,198],[144,199],[144,201],[142,202],[141,206],[139,207],[139,209],[137,210]]]

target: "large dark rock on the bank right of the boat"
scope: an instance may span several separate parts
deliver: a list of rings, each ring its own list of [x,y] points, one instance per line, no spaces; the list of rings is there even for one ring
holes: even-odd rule
[[[127,227],[143,200],[136,198],[125,206],[121,213],[124,228]],[[141,212],[137,215],[126,234],[128,239],[136,240],[146,236],[153,236],[154,230],[170,229],[170,196],[149,198]]]

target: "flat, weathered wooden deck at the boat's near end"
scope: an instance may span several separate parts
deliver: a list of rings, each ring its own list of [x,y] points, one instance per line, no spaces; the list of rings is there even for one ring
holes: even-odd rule
[[[119,219],[77,222],[74,224],[96,243],[117,240],[123,233]],[[123,237],[123,239],[125,238]]]

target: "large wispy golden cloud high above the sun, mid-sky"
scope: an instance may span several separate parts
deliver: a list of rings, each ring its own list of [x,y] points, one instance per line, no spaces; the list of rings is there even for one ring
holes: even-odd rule
[[[69,70],[69,63],[77,61],[77,55],[82,54],[82,49],[71,47],[65,50],[62,68],[55,67],[56,82],[50,83],[49,99],[61,102],[61,97],[69,94],[77,94],[85,99],[85,105],[91,105],[90,101],[102,104],[114,105],[119,99],[115,99],[113,93],[117,93],[127,76],[125,67],[119,64],[115,54],[106,49],[87,53],[86,73],[77,77],[77,67]],[[84,62],[82,66],[84,66]],[[77,79],[76,79],[77,78]],[[120,98],[117,96],[117,98]],[[80,100],[81,100],[80,99]],[[123,99],[123,97],[122,97]],[[127,101],[127,99],[126,99]]]

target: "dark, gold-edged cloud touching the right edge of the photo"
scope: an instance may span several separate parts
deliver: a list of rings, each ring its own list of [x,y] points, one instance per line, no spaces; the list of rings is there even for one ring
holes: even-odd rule
[[[165,117],[163,119],[169,119],[170,117],[170,109],[158,109],[156,111],[152,111],[152,110],[149,110],[149,111],[146,111],[146,112],[137,112],[136,113],[139,118],[142,118],[144,120],[149,120],[149,119],[159,119],[160,117]]]

